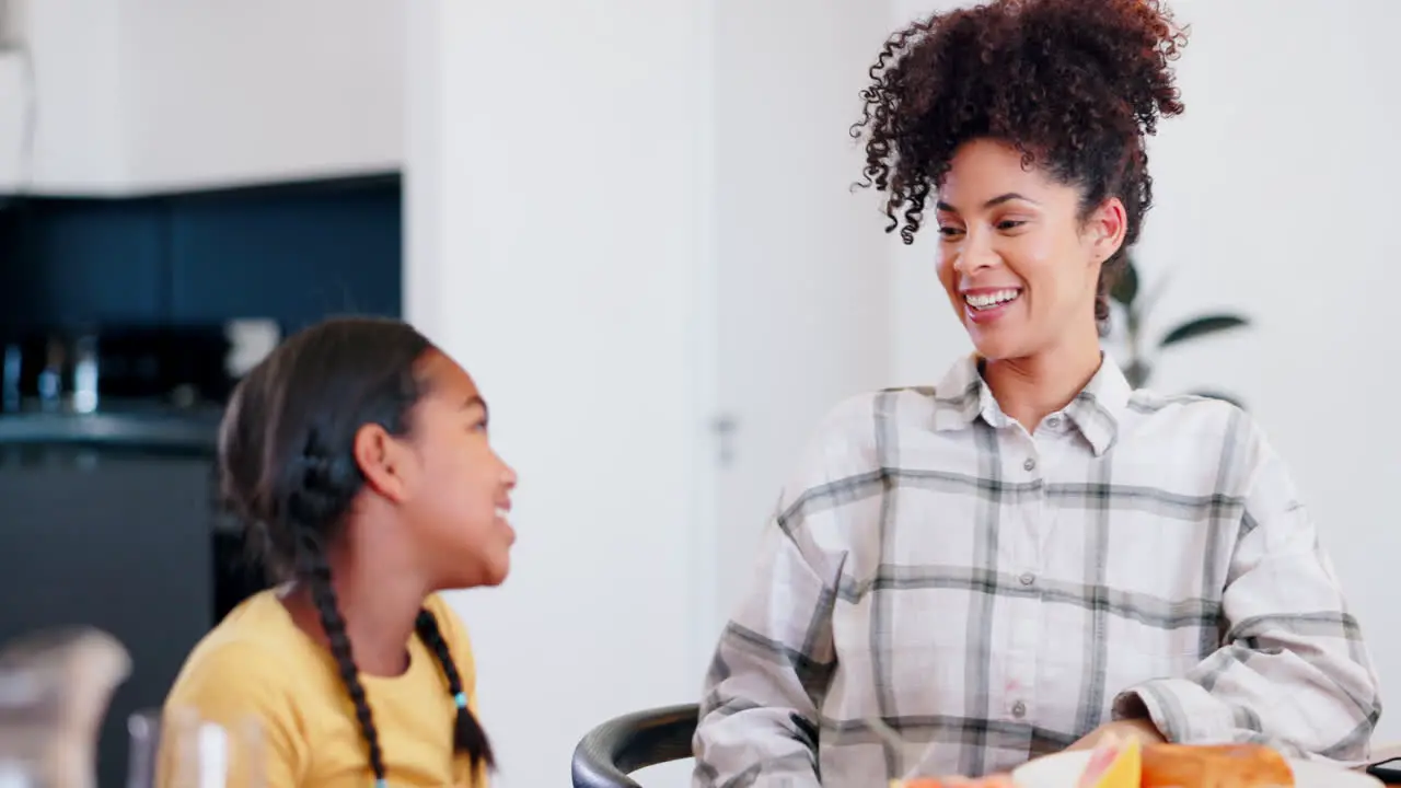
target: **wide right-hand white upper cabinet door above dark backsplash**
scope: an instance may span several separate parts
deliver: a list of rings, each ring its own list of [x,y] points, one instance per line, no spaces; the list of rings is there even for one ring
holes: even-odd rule
[[[402,165],[402,0],[119,6],[125,167],[136,189]]]

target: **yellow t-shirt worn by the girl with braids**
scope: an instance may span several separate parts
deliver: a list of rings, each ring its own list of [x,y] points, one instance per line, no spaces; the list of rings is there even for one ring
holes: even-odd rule
[[[476,672],[467,630],[440,596],[430,596],[425,607],[437,617],[475,714]],[[403,674],[361,673],[360,681],[391,788],[485,788],[485,771],[471,774],[467,754],[454,753],[457,707],[437,658],[417,637],[409,642]],[[335,659],[297,628],[272,590],[234,609],[185,660],[165,698],[167,729],[178,729],[172,721],[192,714],[228,731],[230,788],[374,788],[368,745]],[[174,785],[171,775],[179,771],[172,759],[182,747],[172,739],[192,738],[167,733],[165,785]],[[249,766],[265,777],[248,781],[242,770]]]

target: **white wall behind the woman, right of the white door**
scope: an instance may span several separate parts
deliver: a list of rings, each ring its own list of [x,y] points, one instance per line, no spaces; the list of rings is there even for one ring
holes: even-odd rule
[[[897,24],[926,8],[902,0]],[[947,6],[948,3],[943,3]],[[1150,386],[1238,393],[1289,460],[1353,599],[1383,680],[1379,739],[1401,739],[1398,380],[1390,363],[1401,158],[1394,0],[1175,0],[1192,39],[1187,114],[1160,126],[1138,258],[1171,275],[1159,328],[1198,311],[1255,327],[1182,345]],[[1307,8],[1307,13],[1304,10]],[[1210,79],[1208,79],[1208,72]],[[932,240],[895,250],[894,374],[932,381],[968,344],[933,276]]]

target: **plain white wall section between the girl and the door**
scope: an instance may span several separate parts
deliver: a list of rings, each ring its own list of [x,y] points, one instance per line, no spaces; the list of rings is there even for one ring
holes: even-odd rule
[[[455,600],[502,785],[567,784],[597,722],[693,701],[709,649],[703,7],[412,4],[408,314],[478,379],[521,477],[507,585]]]

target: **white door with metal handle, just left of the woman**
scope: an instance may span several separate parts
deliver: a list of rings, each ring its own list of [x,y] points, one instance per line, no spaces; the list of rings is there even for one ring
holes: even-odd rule
[[[888,32],[870,0],[720,0],[715,20],[717,623],[818,419],[885,383],[898,241],[848,133]]]

